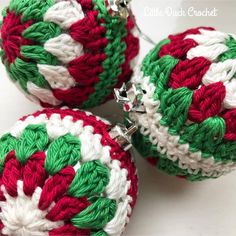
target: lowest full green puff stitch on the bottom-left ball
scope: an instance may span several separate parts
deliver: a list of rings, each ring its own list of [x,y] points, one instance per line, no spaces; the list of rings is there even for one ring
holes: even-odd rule
[[[114,218],[116,210],[115,200],[97,198],[85,210],[74,216],[71,222],[77,228],[99,230]]]

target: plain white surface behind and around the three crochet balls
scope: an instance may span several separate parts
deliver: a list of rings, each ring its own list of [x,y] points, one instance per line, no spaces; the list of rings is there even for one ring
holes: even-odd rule
[[[0,8],[7,4],[0,0]],[[216,17],[168,16],[166,7],[188,7],[218,10]],[[148,8],[161,11],[164,16],[148,16]],[[133,0],[133,11],[142,30],[153,40],[160,41],[170,33],[200,25],[236,33],[236,2]],[[142,41],[140,59],[151,49]],[[9,82],[0,65],[0,133],[8,130],[23,115],[38,107],[27,101]],[[114,119],[114,106],[96,108],[96,114]],[[156,171],[136,154],[139,169],[139,198],[126,236],[236,236],[236,172],[218,180],[188,183]]]

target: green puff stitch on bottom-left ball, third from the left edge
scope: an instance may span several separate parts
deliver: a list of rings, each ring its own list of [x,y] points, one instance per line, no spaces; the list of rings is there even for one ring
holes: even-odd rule
[[[80,140],[66,134],[50,143],[44,163],[46,171],[55,175],[66,166],[74,166],[80,160]]]

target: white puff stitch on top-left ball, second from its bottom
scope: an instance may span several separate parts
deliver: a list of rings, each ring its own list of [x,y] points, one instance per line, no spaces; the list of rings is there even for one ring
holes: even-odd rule
[[[48,81],[52,89],[67,90],[76,85],[74,78],[64,66],[38,64],[38,70]]]

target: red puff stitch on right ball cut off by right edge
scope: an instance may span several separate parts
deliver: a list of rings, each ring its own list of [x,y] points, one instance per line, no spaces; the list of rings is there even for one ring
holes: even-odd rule
[[[221,117],[225,120],[226,125],[224,138],[229,141],[236,141],[236,109],[224,111]]]

